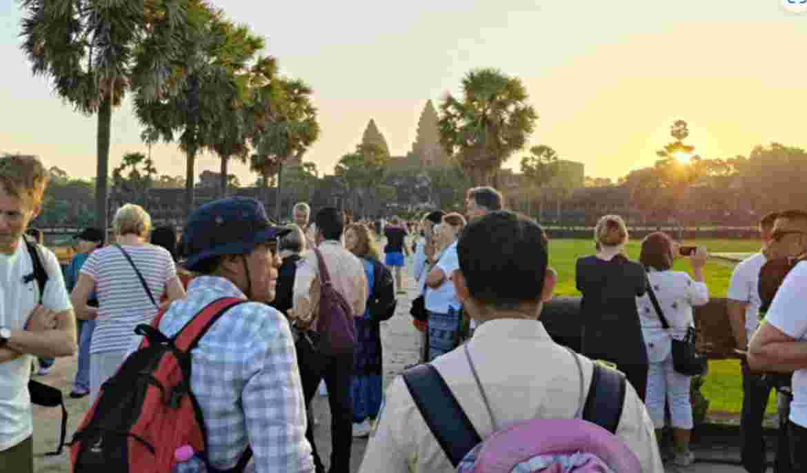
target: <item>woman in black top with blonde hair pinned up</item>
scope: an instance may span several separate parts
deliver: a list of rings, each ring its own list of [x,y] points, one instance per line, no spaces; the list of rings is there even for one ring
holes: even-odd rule
[[[649,363],[636,297],[645,293],[645,271],[623,253],[628,231],[621,217],[600,219],[595,238],[596,255],[577,260],[575,271],[583,293],[581,351],[588,358],[616,363],[644,400]]]

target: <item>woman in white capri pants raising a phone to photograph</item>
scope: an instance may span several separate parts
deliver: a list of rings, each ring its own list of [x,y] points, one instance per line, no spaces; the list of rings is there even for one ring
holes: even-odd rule
[[[669,405],[675,458],[673,463],[688,467],[695,457],[689,450],[692,432],[692,404],[689,400],[690,376],[676,373],[672,362],[672,338],[682,339],[693,326],[692,307],[709,302],[709,288],[703,277],[708,254],[703,248],[692,253],[692,274],[673,271],[672,263],[679,256],[679,247],[663,232],[648,235],[642,241],[639,262],[645,266],[656,299],[670,329],[663,329],[649,294],[638,297],[637,307],[642,322],[642,335],[647,347],[650,370],[647,373],[645,403],[661,438],[664,427],[664,407]]]

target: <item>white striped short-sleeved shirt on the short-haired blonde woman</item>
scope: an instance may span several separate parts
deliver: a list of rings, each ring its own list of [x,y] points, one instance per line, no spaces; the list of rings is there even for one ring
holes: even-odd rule
[[[177,276],[177,266],[168,250],[156,245],[122,245],[143,274],[154,300],[160,303],[165,283]],[[115,246],[97,249],[82,266],[95,282],[98,318],[95,320],[90,354],[126,351],[138,324],[150,324],[157,308],[148,299],[140,278]]]

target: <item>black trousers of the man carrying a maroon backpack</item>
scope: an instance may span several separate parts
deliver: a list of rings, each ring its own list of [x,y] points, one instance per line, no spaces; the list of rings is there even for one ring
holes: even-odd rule
[[[353,381],[353,352],[324,356],[312,349],[301,337],[297,344],[297,361],[303,383],[306,409],[311,410],[311,400],[316,396],[320,381],[328,388],[328,404],[331,407],[331,473],[349,473],[350,449],[353,446],[353,401],[350,386]],[[311,417],[309,416],[309,420]],[[311,443],[314,466],[317,473],[325,471],[316,451],[314,429],[308,422],[305,437]]]

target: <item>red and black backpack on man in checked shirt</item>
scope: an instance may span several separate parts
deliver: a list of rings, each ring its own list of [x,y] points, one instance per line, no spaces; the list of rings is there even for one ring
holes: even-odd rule
[[[138,325],[135,333],[144,335],[140,349],[103,383],[73,435],[73,473],[169,473],[178,450],[187,446],[207,471],[218,471],[207,458],[202,410],[190,391],[190,351],[224,312],[244,302],[217,299],[170,338],[158,330],[165,310],[153,324]],[[243,471],[250,458],[248,446],[230,471]]]

